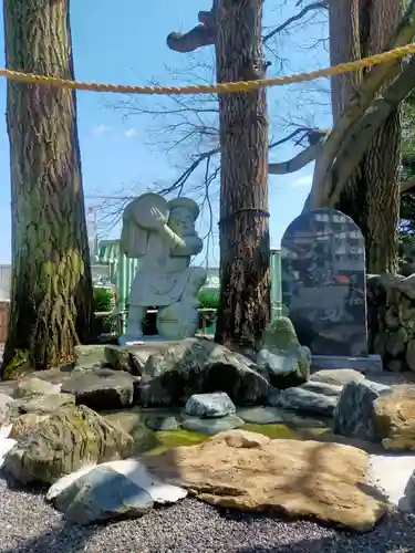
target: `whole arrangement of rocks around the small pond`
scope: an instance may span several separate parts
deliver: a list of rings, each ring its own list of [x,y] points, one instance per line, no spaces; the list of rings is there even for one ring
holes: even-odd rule
[[[225,508],[367,531],[390,504],[353,440],[415,451],[415,387],[381,386],[346,368],[310,375],[310,352],[284,317],[257,358],[204,338],[80,346],[72,372],[46,378],[17,383],[12,398],[0,394],[0,458],[20,482],[52,484],[48,499],[81,524],[139,517],[191,492]],[[252,425],[315,432],[271,439]],[[184,430],[197,432],[186,435],[191,447],[145,453],[158,432]]]

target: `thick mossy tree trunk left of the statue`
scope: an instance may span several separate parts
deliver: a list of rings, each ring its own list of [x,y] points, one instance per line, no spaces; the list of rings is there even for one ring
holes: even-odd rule
[[[4,0],[11,70],[73,79],[68,0]],[[12,283],[3,377],[71,362],[90,336],[92,284],[75,94],[8,82]]]

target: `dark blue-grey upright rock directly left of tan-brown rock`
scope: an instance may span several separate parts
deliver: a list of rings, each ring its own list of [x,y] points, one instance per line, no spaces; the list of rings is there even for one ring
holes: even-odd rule
[[[391,392],[390,386],[371,380],[346,384],[333,414],[334,434],[365,441],[380,441],[374,420],[374,401],[382,394]]]

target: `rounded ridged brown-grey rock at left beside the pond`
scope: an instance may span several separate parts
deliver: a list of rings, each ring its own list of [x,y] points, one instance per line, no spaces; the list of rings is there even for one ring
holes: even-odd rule
[[[80,406],[41,421],[9,452],[6,469],[19,481],[53,482],[85,465],[128,457],[133,438]]]

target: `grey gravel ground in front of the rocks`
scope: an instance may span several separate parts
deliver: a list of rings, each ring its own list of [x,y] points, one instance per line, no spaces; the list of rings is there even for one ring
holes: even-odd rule
[[[415,515],[393,515],[369,534],[312,522],[225,514],[195,500],[105,526],[65,525],[41,492],[0,479],[1,553],[414,553]]]

